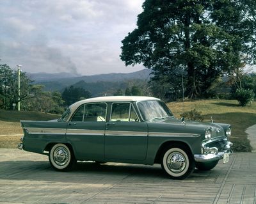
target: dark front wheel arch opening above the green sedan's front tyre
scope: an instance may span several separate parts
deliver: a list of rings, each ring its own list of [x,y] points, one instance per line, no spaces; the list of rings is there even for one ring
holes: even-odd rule
[[[161,158],[163,156],[163,153],[168,149],[168,147],[170,145],[185,146],[186,149],[189,151],[188,153],[191,153],[191,155],[193,155],[193,152],[192,152],[190,146],[187,143],[185,143],[184,141],[175,141],[175,140],[166,141],[161,146],[159,146],[157,153],[156,153],[154,163],[161,164]]]

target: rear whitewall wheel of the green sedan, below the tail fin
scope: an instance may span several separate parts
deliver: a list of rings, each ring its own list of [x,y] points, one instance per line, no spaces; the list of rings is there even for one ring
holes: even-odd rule
[[[56,171],[68,171],[74,168],[76,159],[67,145],[58,143],[51,148],[49,162]]]

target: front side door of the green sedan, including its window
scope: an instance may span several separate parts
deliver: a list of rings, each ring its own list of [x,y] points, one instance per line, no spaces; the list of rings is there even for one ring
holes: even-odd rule
[[[148,127],[140,122],[131,103],[115,102],[106,124],[105,157],[142,161],[147,155]]]

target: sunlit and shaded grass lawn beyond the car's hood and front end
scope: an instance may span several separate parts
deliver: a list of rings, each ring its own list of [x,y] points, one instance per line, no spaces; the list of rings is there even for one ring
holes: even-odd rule
[[[211,122],[211,117],[216,123],[228,123],[232,125],[230,141],[234,143],[237,152],[250,152],[250,141],[245,130],[256,124],[256,102],[250,106],[241,107],[237,100],[192,100],[184,102],[171,102],[168,107],[173,114],[180,118],[184,111],[196,109],[204,116],[204,122]]]

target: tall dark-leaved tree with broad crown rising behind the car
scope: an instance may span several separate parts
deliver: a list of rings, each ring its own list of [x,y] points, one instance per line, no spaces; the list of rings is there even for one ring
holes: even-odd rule
[[[232,0],[146,0],[137,26],[122,40],[125,65],[143,63],[155,75],[186,70],[191,98],[204,96],[216,78],[241,64],[252,40]]]

